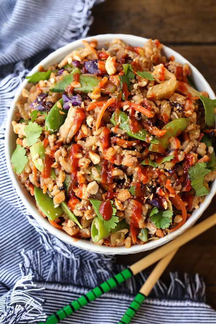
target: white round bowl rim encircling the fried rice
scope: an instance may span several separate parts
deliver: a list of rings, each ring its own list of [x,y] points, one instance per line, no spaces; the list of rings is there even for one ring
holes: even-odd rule
[[[143,44],[147,41],[146,38],[133,36],[133,35],[126,35],[126,34],[105,34],[105,35],[98,35],[94,36],[94,39],[98,41],[99,48],[102,48],[102,46],[105,45],[106,42],[112,41],[114,38],[120,38],[123,41],[126,41],[131,46],[140,46],[142,47]],[[92,37],[87,37],[85,40],[90,41]],[[56,62],[60,62],[66,54],[69,52],[75,50],[76,48],[82,47],[83,44],[81,40],[74,41],[62,48],[59,48],[55,52],[48,55],[44,60],[42,60],[38,65],[36,65],[32,71],[30,72],[30,75],[38,71],[39,65],[42,65],[44,68],[48,68],[49,65],[54,64]],[[175,52],[174,50],[170,49],[169,47],[164,46],[163,47],[164,52],[167,57],[170,57],[171,55],[174,55],[176,62],[179,63],[188,63],[191,70],[192,70],[192,77],[195,86],[200,91],[207,91],[209,93],[209,96],[211,99],[215,98],[215,94],[213,90],[211,89],[208,82],[204,79],[204,77],[201,75],[201,73],[192,65],[190,64],[183,56]],[[27,210],[31,213],[31,215],[37,220],[37,222],[45,229],[47,229],[50,233],[53,235],[56,235],[58,238],[60,238],[62,241],[74,245],[80,249],[89,250],[96,253],[104,253],[104,254],[130,254],[130,253],[138,253],[147,251],[150,249],[157,248],[161,246],[162,244],[165,244],[169,242],[170,240],[174,239],[175,237],[181,235],[188,227],[192,226],[198,218],[203,214],[204,210],[209,206],[211,203],[211,200],[213,196],[216,193],[216,180],[212,183],[210,193],[206,196],[205,201],[200,204],[199,209],[195,210],[191,217],[186,221],[186,223],[176,231],[170,233],[169,235],[166,235],[165,237],[162,237],[158,240],[152,240],[148,242],[145,245],[134,245],[130,249],[126,249],[125,247],[107,247],[107,246],[100,246],[96,245],[94,243],[91,243],[87,240],[78,240],[73,237],[70,237],[66,234],[66,232],[61,231],[57,228],[54,228],[47,219],[43,218],[39,211],[37,210],[35,206],[35,200],[33,197],[30,196],[30,194],[26,191],[25,187],[21,185],[20,181],[18,180],[18,177],[13,171],[10,159],[11,155],[15,149],[16,146],[16,138],[17,135],[13,132],[13,127],[11,125],[11,121],[16,120],[15,116],[15,107],[16,102],[21,94],[21,90],[26,87],[27,80],[24,80],[20,87],[18,88],[18,91],[16,93],[16,96],[14,97],[14,100],[11,104],[10,110],[8,112],[8,118],[6,122],[6,132],[5,132],[5,151],[6,151],[6,162],[7,162],[7,168],[10,174],[10,178],[13,182],[13,185],[21,198],[24,206],[27,208]]]

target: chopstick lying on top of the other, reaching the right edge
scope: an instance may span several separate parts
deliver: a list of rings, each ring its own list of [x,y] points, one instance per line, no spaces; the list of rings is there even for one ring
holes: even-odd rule
[[[180,246],[184,245],[194,237],[205,232],[210,227],[216,224],[216,213],[208,217],[206,220],[202,221],[193,228],[187,230],[181,236],[175,238],[171,242],[165,244],[161,248],[142,258],[141,260],[135,262],[130,267],[116,274],[113,278],[108,279],[104,283],[90,290],[86,295],[79,297],[77,300],[74,300],[69,305],[61,308],[56,313],[50,315],[45,324],[56,324],[61,321],[63,318],[74,313],[76,310],[87,305],[89,302],[95,300],[97,297],[100,297],[102,294],[110,291],[118,284],[122,284],[128,278],[131,278],[133,275],[138,272],[148,268],[151,264],[157,262],[158,260],[165,257],[167,254],[173,250],[178,249]],[[39,324],[44,324],[40,322]]]

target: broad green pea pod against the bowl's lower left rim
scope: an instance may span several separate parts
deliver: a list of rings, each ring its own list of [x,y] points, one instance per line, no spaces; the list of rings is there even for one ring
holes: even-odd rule
[[[59,206],[54,208],[53,199],[50,198],[47,193],[44,194],[42,189],[36,186],[34,187],[34,198],[42,213],[52,221],[63,214],[62,208]]]

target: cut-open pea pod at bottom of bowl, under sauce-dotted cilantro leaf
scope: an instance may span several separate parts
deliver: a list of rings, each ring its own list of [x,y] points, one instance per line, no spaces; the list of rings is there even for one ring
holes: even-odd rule
[[[108,237],[111,234],[119,231],[120,229],[129,228],[129,225],[123,219],[121,222],[117,223],[115,228],[111,228],[111,231],[108,232],[104,227],[104,222],[99,219],[97,216],[94,217],[93,222],[91,223],[91,238],[94,243],[97,243],[102,238]]]

